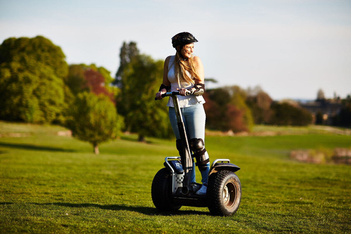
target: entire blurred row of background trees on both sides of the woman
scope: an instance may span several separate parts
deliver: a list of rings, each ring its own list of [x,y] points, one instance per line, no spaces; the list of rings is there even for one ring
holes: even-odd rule
[[[165,101],[154,101],[163,77],[163,60],[140,54],[124,42],[115,77],[94,64],[71,64],[61,48],[43,36],[8,38],[0,45],[0,119],[67,126],[98,153],[101,142],[121,131],[170,138]],[[206,82],[215,82],[206,79]],[[273,101],[259,87],[206,89],[206,127],[251,131],[254,124],[307,125],[311,114],[290,103]],[[350,99],[335,121],[345,123]],[[346,116],[346,117],[345,117]],[[349,118],[350,119],[350,118]]]

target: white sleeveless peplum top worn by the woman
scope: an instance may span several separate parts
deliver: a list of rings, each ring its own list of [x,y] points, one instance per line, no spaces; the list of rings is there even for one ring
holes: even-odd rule
[[[192,88],[194,87],[193,84],[188,84],[186,82],[180,83],[180,87],[178,85],[176,76],[174,75],[174,58],[176,55],[172,55],[170,58],[170,62],[168,63],[168,80],[171,82],[171,91],[170,92],[178,92],[177,88]],[[190,78],[193,78],[192,75],[188,71],[185,71],[187,75]],[[179,100],[179,107],[188,107],[195,105],[196,103],[205,103],[205,99],[203,96],[194,96],[194,95],[189,95],[189,96],[180,96],[178,95],[178,100]],[[173,105],[173,99],[171,97],[168,98],[168,103],[167,106],[174,107]]]

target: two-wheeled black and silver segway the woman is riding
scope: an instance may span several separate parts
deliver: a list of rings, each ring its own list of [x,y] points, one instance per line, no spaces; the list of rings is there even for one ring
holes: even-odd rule
[[[241,184],[235,174],[240,168],[230,163],[229,159],[214,160],[208,173],[206,195],[195,194],[201,184],[190,183],[193,161],[177,95],[179,92],[168,92],[162,94],[162,97],[171,96],[173,99],[184,158],[165,158],[164,168],[156,173],[152,181],[152,201],[160,211],[174,211],[181,206],[191,206],[208,207],[212,215],[233,215],[238,210],[241,199]]]

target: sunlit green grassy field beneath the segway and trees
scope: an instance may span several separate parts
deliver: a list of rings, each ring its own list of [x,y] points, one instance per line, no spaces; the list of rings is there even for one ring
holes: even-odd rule
[[[151,182],[165,156],[177,155],[173,140],[124,135],[97,156],[62,130],[0,122],[0,233],[351,233],[351,167],[289,158],[294,149],[350,148],[351,136],[304,128],[206,136],[211,161],[241,168],[240,207],[217,217],[207,208],[154,208]]]

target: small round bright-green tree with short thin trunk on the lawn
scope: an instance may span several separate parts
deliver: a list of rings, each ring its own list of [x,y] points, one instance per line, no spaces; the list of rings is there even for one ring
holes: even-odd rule
[[[67,127],[72,135],[92,144],[99,154],[99,144],[114,139],[120,133],[122,118],[105,95],[82,92],[69,111]]]

